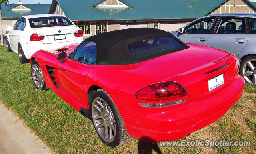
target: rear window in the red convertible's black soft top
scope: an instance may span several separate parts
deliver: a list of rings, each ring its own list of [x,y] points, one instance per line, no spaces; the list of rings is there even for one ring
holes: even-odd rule
[[[135,59],[162,55],[162,53],[181,50],[183,47],[178,41],[168,36],[144,39],[128,46]]]

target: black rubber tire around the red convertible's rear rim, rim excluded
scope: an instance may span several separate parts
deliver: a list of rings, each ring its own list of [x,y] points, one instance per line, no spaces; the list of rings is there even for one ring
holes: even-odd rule
[[[109,143],[109,142],[105,142],[100,137],[100,134],[96,130],[96,127],[95,127],[95,124],[93,121],[95,131],[97,132],[97,134],[100,137],[100,139],[102,140],[102,142],[104,142],[104,144],[106,144],[107,146],[112,147],[112,148],[118,148],[118,147],[130,142],[132,140],[132,138],[126,132],[126,129],[124,127],[124,121],[123,121],[118,109],[116,108],[114,101],[111,99],[111,97],[108,95],[108,93],[106,91],[104,91],[103,89],[99,89],[99,90],[95,91],[94,94],[92,95],[92,99],[90,101],[90,113],[92,114],[92,101],[96,98],[101,98],[108,104],[108,106],[110,107],[110,109],[113,113],[114,120],[115,120],[115,126],[116,126],[116,133],[115,133],[116,136],[115,136],[114,140]]]

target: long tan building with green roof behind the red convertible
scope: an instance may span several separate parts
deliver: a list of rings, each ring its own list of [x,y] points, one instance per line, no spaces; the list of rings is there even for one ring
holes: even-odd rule
[[[49,14],[67,16],[87,38],[125,28],[172,31],[208,14],[255,12],[248,0],[53,0]]]

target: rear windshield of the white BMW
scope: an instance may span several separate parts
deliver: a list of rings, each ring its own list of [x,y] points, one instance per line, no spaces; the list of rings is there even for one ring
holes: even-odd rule
[[[73,23],[66,17],[30,18],[29,24],[31,28],[73,25]]]

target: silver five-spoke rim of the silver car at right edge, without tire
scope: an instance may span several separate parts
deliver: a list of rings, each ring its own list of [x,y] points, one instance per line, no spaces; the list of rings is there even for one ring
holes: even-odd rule
[[[256,85],[256,59],[248,60],[244,64],[243,77],[248,83]]]

